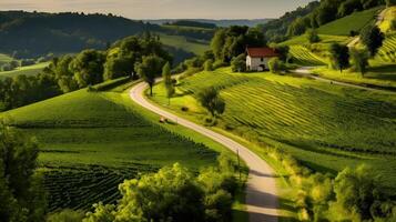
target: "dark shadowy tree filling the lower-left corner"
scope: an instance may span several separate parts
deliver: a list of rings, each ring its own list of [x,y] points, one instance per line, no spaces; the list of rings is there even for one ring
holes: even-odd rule
[[[45,193],[35,172],[38,144],[0,123],[0,219],[43,221]]]

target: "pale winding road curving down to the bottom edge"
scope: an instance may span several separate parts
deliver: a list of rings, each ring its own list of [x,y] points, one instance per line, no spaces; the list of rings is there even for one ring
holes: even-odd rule
[[[250,175],[246,183],[246,208],[250,222],[277,222],[278,198],[275,186],[276,175],[272,168],[251,150],[230,138],[180,118],[146,101],[143,95],[146,88],[145,82],[135,84],[130,90],[130,98],[141,107],[211,138],[233,152],[238,151],[241,159],[243,159],[250,168]]]

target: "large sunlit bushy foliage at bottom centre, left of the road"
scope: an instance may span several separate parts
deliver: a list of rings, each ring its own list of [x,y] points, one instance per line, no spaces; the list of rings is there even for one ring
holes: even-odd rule
[[[227,170],[209,168],[195,178],[175,163],[124,181],[119,186],[122,199],[118,205],[95,204],[83,221],[230,221],[232,194],[227,185],[236,182]]]

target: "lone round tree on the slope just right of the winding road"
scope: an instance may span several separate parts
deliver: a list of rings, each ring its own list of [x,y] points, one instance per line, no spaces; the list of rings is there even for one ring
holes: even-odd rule
[[[214,118],[216,114],[222,114],[225,110],[225,102],[219,95],[219,90],[207,88],[197,93],[197,100]]]

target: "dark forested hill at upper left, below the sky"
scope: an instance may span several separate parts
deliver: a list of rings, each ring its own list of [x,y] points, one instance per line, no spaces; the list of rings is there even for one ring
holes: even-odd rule
[[[119,39],[146,31],[179,36],[190,42],[205,42],[213,36],[211,32],[167,29],[113,14],[0,11],[0,52],[14,58],[37,58],[50,52],[62,54],[83,49],[106,49]],[[196,53],[179,46],[165,47],[177,61]]]

